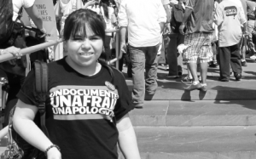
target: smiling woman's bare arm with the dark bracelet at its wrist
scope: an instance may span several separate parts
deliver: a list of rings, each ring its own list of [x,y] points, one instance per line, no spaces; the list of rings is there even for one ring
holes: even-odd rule
[[[33,119],[38,112],[38,107],[34,105],[26,105],[21,100],[18,100],[13,124],[15,131],[25,139],[29,144],[38,148],[38,150],[45,151],[52,142],[45,136],[40,128],[33,122]],[[49,149],[47,157],[50,159],[61,159],[61,153],[55,147]]]

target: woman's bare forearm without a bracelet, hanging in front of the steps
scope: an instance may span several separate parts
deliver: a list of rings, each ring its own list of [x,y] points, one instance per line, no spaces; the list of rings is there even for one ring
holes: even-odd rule
[[[128,113],[117,122],[117,128],[120,150],[125,159],[140,159],[136,135]]]

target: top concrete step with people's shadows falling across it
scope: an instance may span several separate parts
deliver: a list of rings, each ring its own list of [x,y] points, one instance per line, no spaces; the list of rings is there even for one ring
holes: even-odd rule
[[[129,90],[132,89],[132,81],[126,80]],[[241,80],[240,82],[207,82],[207,92],[194,90],[185,91],[189,83],[159,80],[152,100],[240,100],[256,99],[255,80]]]

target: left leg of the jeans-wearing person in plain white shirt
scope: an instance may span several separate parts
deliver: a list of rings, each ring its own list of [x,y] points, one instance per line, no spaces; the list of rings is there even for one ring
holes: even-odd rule
[[[132,71],[132,102],[137,108],[143,107],[145,96],[145,48],[136,48],[128,45],[131,56]]]

